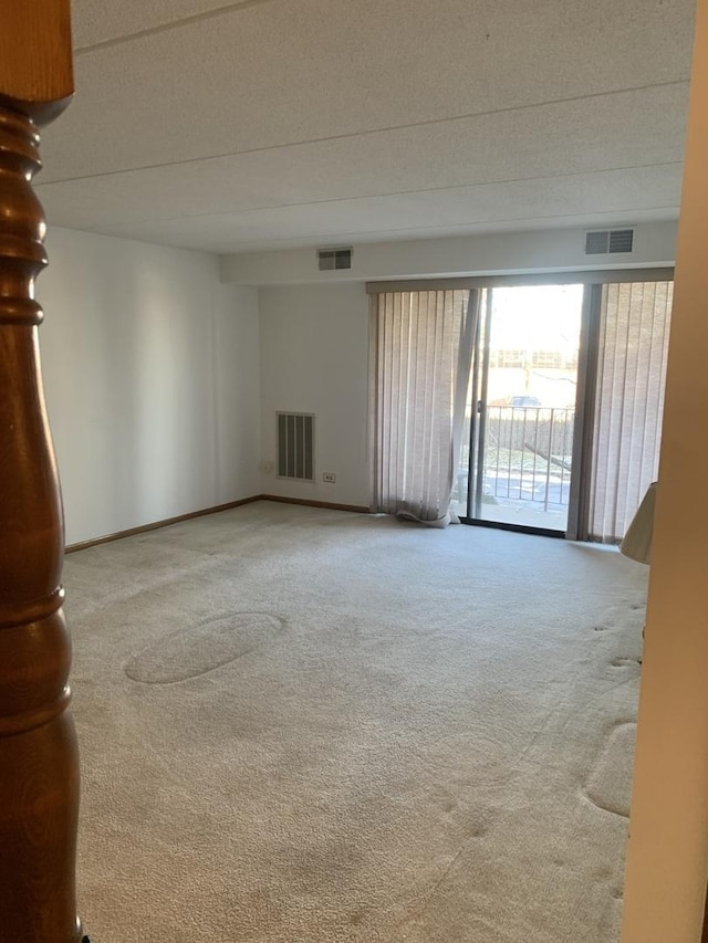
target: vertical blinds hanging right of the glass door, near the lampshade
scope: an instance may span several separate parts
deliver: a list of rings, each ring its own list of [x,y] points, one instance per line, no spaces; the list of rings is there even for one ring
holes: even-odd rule
[[[658,473],[673,282],[605,284],[590,536],[620,541]]]

